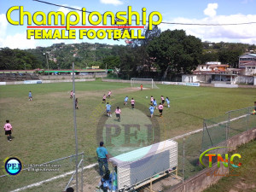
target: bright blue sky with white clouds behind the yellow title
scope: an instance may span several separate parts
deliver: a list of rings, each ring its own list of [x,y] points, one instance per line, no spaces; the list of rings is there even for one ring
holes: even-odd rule
[[[196,38],[201,38],[202,41],[256,44],[256,0],[45,1],[75,9],[85,8],[87,11],[97,11],[101,14],[106,11],[111,11],[114,14],[119,11],[127,11],[127,7],[131,6],[133,11],[137,11],[142,15],[142,9],[146,8],[147,18],[151,12],[158,11],[162,15],[163,21],[172,23],[233,24],[255,22],[254,24],[236,26],[191,26],[161,23],[159,27],[162,32],[167,29],[183,29],[188,35],[194,35]],[[31,14],[38,11],[43,11],[45,14],[50,11],[62,11],[67,14],[69,11],[73,11],[32,0],[0,0],[0,48],[34,49],[37,46],[47,47],[56,43],[75,44],[82,42],[91,44],[125,44],[125,40],[114,41],[107,38],[79,39],[78,34],[76,39],[26,39],[27,22],[25,21],[24,26],[14,26],[6,18],[7,11],[13,6],[23,6],[24,11],[29,11]],[[80,12],[79,15],[81,15]],[[15,10],[11,18],[19,20],[19,11]],[[155,17],[154,20],[156,20]],[[35,25],[32,23],[32,26]]]

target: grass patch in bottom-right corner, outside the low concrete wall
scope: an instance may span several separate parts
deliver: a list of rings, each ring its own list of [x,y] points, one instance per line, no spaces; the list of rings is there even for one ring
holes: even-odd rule
[[[232,154],[241,154],[241,167],[233,168],[233,172],[240,174],[239,177],[223,177],[218,183],[213,184],[204,192],[222,192],[222,191],[256,191],[256,141],[252,141],[240,146]],[[232,167],[231,167],[232,168]],[[237,170],[238,169],[238,170]]]

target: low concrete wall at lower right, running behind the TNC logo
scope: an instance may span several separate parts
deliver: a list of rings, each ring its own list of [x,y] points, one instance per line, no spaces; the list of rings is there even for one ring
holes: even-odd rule
[[[249,131],[244,131],[241,134],[231,137],[227,141],[227,147],[229,151],[235,150],[241,144],[249,143],[251,140],[256,138],[256,127]],[[214,176],[213,174],[207,176],[207,172],[219,172],[219,174],[224,175],[227,173],[227,168],[220,166],[218,168],[217,164],[214,164],[212,168],[207,168],[198,172],[194,177],[190,177],[185,180],[184,183],[179,183],[173,186],[171,189],[166,189],[165,191],[177,191],[177,192],[200,192],[207,189],[210,185],[217,183],[222,176]]]

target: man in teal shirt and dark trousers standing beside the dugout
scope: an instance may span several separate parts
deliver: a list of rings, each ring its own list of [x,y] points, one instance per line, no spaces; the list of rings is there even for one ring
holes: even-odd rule
[[[104,172],[102,167],[104,166],[105,172],[108,171],[108,150],[104,147],[104,143],[100,143],[100,147],[96,148],[96,154],[98,157],[98,163],[100,168],[100,175],[103,176]]]

